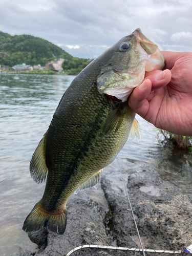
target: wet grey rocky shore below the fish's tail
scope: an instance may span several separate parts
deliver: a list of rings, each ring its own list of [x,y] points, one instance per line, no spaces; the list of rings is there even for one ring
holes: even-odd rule
[[[190,195],[147,168],[123,172],[123,177],[144,248],[181,250],[192,244]],[[97,189],[79,191],[70,198],[66,232],[62,236],[47,230],[29,234],[37,249],[21,256],[64,256],[85,244],[141,248],[127,202],[121,176],[103,173]],[[133,253],[81,249],[72,255],[127,254]]]

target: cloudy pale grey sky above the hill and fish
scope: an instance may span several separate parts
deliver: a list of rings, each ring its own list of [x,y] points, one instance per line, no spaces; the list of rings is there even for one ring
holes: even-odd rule
[[[192,51],[191,0],[1,0],[0,31],[95,58],[140,28],[160,50]]]

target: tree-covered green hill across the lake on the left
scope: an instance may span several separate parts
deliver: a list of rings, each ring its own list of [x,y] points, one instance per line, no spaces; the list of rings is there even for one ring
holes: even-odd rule
[[[32,35],[14,35],[0,31],[0,65],[45,66],[46,62],[55,58],[72,59],[72,56],[48,40]]]

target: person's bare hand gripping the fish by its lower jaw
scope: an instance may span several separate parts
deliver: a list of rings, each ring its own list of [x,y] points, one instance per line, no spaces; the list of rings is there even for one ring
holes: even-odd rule
[[[157,128],[192,136],[192,53],[162,53],[166,70],[147,72],[129,106]]]

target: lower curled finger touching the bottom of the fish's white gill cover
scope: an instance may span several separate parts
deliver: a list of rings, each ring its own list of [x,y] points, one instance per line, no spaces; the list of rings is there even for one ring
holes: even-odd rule
[[[152,82],[146,79],[140,86],[134,89],[128,101],[130,108],[142,117],[144,117],[148,111],[149,104],[146,98],[151,94],[151,90]]]

